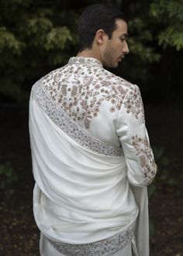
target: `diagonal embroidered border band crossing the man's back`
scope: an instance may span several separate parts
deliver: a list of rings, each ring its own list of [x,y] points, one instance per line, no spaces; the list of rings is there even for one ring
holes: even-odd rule
[[[69,137],[75,140],[82,147],[92,150],[98,154],[114,156],[123,155],[122,147],[115,147],[97,140],[80,125],[78,125],[78,123],[74,122],[74,119],[68,116],[67,113],[64,112],[64,110],[58,106],[52,98],[50,98],[50,95],[45,92],[45,88],[43,88],[41,84],[42,79],[33,85],[33,95],[36,101],[39,103],[42,109],[47,112],[50,119],[52,119],[61,130],[67,133]]]

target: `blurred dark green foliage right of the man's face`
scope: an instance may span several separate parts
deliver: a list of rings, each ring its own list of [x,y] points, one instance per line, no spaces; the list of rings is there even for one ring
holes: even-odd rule
[[[158,102],[180,101],[183,1],[124,0],[121,6],[129,17],[130,50],[121,73]]]

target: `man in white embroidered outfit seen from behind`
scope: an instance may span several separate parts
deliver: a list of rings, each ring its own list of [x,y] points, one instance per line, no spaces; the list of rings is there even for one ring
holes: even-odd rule
[[[129,53],[126,19],[91,5],[80,50],[33,86],[29,130],[40,254],[149,254],[147,185],[157,167],[140,90],[106,71]]]

